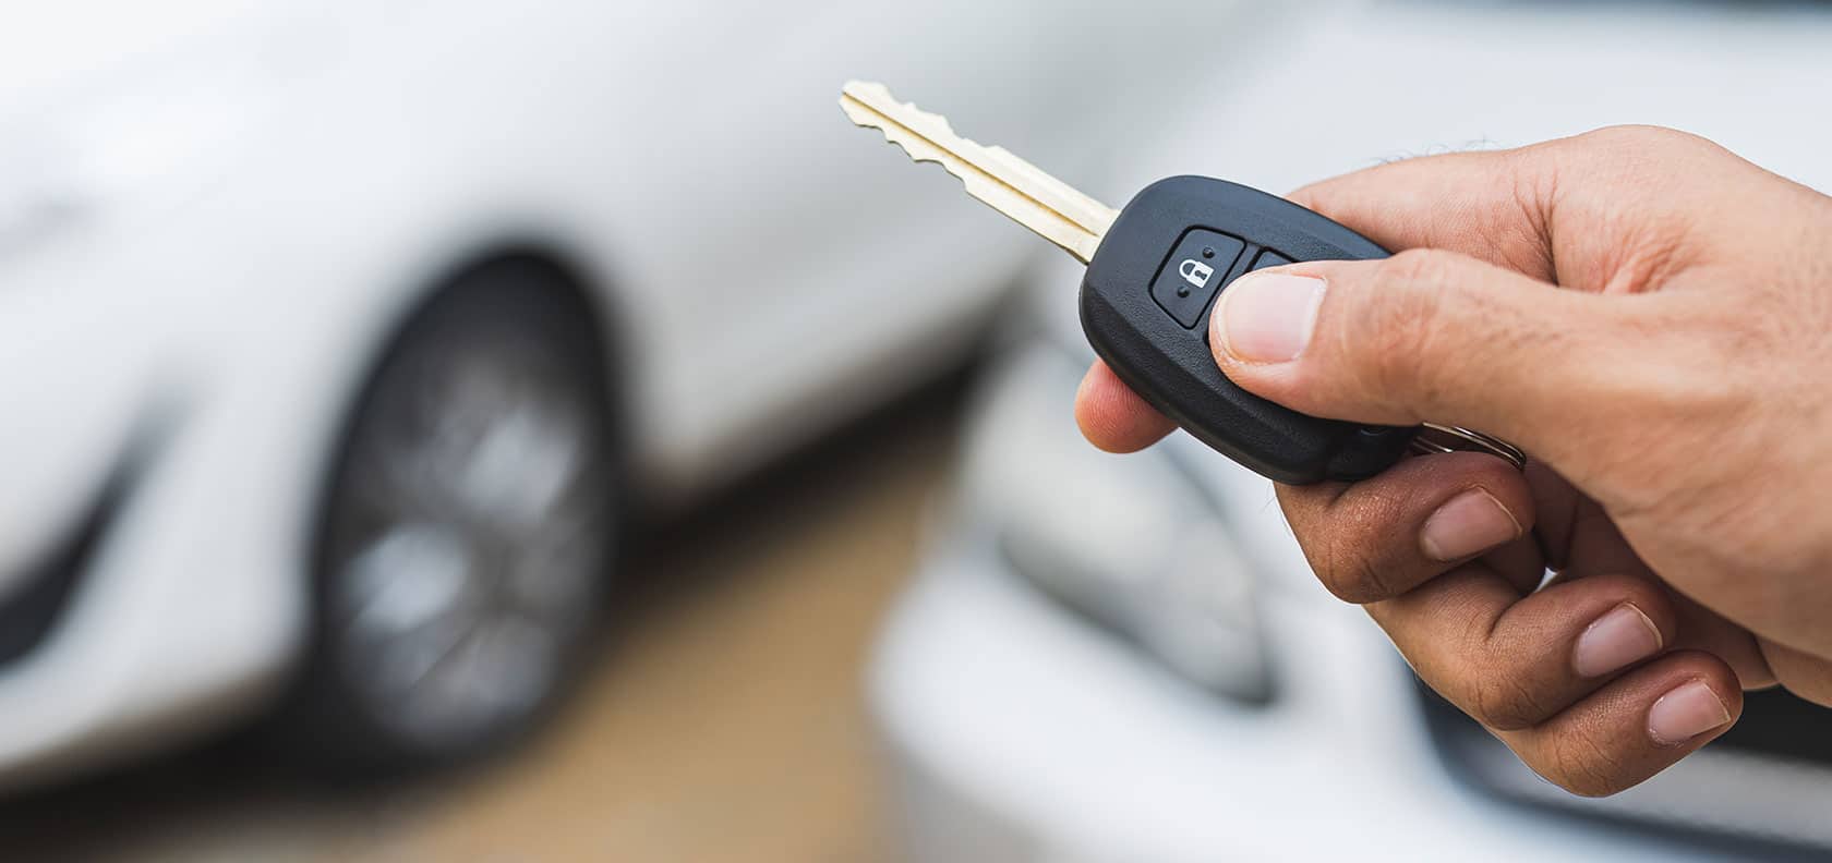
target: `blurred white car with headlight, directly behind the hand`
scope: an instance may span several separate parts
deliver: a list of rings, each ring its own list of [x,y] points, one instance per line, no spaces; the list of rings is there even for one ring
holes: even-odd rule
[[[1832,189],[1825,7],[1358,2],[1277,31],[1193,134],[1129,165],[1136,185],[1286,191],[1643,121]],[[1566,795],[1323,590],[1266,480],[1187,434],[1094,451],[1070,420],[1092,359],[1077,279],[1061,260],[1031,299],[1044,337],[986,381],[958,491],[878,645],[907,859],[1832,854],[1832,713],[1751,693],[1729,735],[1660,777]]]

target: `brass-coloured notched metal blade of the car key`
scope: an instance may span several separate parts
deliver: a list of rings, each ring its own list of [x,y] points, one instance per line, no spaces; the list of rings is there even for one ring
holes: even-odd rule
[[[885,132],[914,161],[932,161],[960,178],[967,194],[1061,246],[1086,264],[1119,211],[1077,192],[1004,147],[982,147],[954,134],[947,117],[900,103],[885,84],[848,81],[839,108],[854,123]]]

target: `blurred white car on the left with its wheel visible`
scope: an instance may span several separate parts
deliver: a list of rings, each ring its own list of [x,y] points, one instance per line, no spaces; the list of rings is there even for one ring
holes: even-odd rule
[[[282,693],[339,757],[528,727],[606,586],[643,575],[616,572],[617,528],[958,363],[1037,251],[854,130],[839,84],[1090,169],[1152,104],[1116,93],[1194,62],[1077,79],[1149,51],[1156,15],[15,11],[0,784]]]

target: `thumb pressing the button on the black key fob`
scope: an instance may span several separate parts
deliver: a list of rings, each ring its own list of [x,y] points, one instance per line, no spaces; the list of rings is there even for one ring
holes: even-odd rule
[[[1222,291],[1209,344],[1237,385],[1290,409],[1466,425],[1559,465],[1561,442],[1594,442],[1585,427],[1636,401],[1649,361],[1621,344],[1619,315],[1610,297],[1411,249],[1242,275]]]

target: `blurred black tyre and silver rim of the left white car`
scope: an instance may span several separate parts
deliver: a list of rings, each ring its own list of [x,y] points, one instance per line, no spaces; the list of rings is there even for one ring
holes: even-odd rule
[[[463,760],[533,727],[575,676],[621,500],[590,321],[555,273],[502,262],[394,339],[322,500],[311,751]]]

